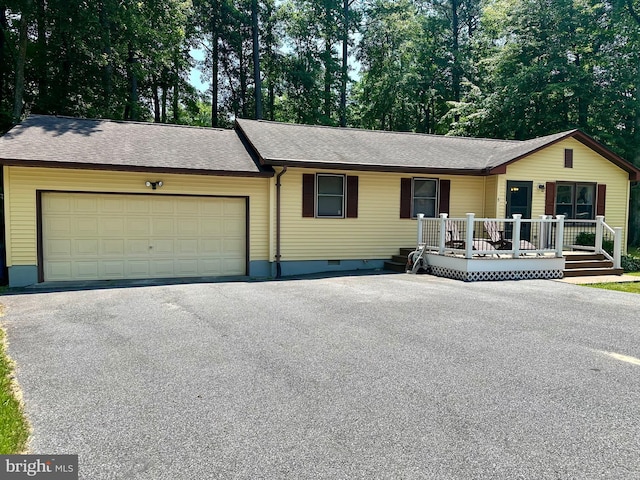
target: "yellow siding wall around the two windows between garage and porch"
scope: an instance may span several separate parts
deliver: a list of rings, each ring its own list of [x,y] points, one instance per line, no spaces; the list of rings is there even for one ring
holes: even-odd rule
[[[358,218],[303,218],[304,173],[357,175]],[[282,261],[381,259],[413,246],[416,221],[400,218],[400,179],[410,177],[450,179],[451,216],[477,211],[483,204],[481,177],[290,168],[282,176]]]

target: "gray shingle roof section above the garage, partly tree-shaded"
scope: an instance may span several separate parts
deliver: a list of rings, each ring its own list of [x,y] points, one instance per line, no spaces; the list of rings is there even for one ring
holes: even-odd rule
[[[31,115],[0,137],[13,164],[271,174],[233,130]]]

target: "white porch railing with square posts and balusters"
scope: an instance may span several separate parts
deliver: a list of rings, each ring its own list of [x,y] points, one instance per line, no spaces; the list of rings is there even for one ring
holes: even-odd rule
[[[614,268],[620,268],[622,228],[610,227],[602,216],[595,220],[565,220],[563,215],[555,218],[541,215],[536,219],[513,215],[513,218],[498,219],[476,218],[473,213],[467,213],[466,218],[448,218],[446,213],[439,218],[425,218],[419,214],[417,224],[418,253],[412,259],[414,265],[427,252],[467,259],[520,258],[532,254],[560,258],[565,249],[578,249],[603,254],[613,262]],[[487,225],[492,226],[494,238],[487,231]],[[500,232],[501,241],[495,238],[496,231]]]

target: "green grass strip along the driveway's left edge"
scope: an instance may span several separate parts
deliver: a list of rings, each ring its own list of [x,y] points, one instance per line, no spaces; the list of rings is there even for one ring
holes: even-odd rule
[[[0,304],[0,316],[4,306]],[[6,334],[0,328],[0,455],[23,453],[29,425],[13,381],[13,362],[7,357]]]

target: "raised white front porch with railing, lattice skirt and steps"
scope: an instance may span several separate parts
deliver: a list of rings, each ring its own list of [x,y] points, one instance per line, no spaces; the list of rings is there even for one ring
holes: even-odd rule
[[[406,266],[411,273],[423,270],[463,281],[622,273],[622,228],[610,227],[602,216],[566,221],[562,215],[537,219],[419,215],[417,225],[417,248],[408,254]]]

